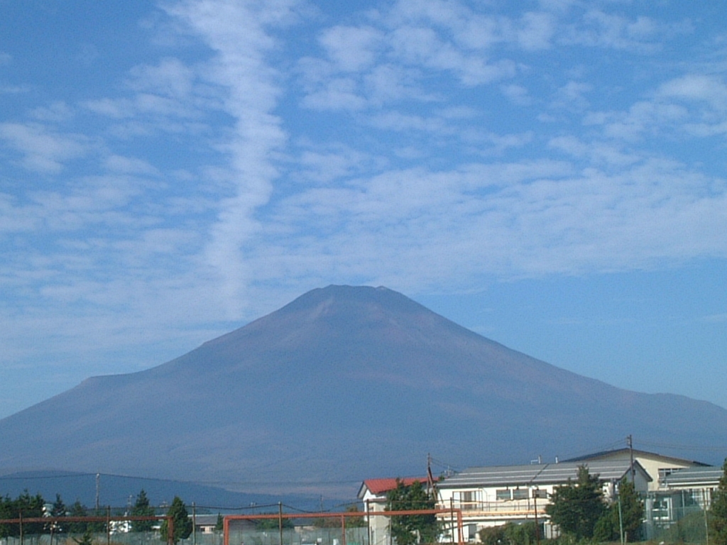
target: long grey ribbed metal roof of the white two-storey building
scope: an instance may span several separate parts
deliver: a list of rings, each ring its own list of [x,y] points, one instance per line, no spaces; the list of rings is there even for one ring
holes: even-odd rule
[[[577,480],[578,468],[582,462],[561,462],[559,464],[531,464],[524,466],[470,467],[465,471],[446,477],[439,488],[491,487],[498,485],[557,485]],[[621,480],[630,470],[629,461],[595,460],[588,464],[591,475],[601,480]],[[645,477],[648,477],[643,469]]]

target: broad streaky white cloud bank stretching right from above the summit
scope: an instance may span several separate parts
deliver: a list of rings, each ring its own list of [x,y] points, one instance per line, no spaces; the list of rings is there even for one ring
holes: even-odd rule
[[[673,162],[604,162],[610,173],[591,168],[575,174],[564,162],[473,164],[459,171],[387,171],[348,188],[311,188],[276,208],[276,222],[288,227],[285,239],[298,240],[294,233],[305,231],[306,245],[263,237],[256,268],[265,263],[269,278],[305,263],[321,278],[371,281],[406,270],[413,285],[441,287],[484,273],[572,274],[727,257],[727,243],[717,234],[727,228],[724,183],[704,195],[707,180]],[[321,255],[326,259],[316,264]]]

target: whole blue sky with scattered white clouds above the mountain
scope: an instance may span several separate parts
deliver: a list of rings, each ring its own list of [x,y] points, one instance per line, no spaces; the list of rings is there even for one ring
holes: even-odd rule
[[[330,283],[727,408],[722,2],[0,12],[0,417]]]

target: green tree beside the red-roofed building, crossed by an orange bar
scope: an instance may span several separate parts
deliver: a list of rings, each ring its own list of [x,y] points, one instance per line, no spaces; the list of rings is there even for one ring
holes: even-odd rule
[[[419,481],[404,485],[396,480],[396,488],[386,494],[386,511],[434,509],[435,499]],[[397,545],[435,543],[440,533],[435,514],[403,514],[390,518],[391,536]]]

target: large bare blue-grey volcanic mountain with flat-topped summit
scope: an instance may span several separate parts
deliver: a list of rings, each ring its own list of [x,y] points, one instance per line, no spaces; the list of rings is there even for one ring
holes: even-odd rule
[[[364,478],[422,474],[427,453],[522,464],[627,435],[683,456],[663,445],[727,445],[727,410],[564,371],[387,288],[329,286],[161,366],[87,379],[1,420],[0,469],[352,495]]]

